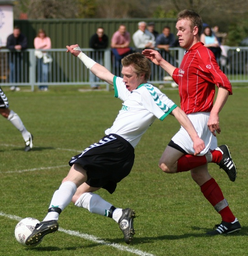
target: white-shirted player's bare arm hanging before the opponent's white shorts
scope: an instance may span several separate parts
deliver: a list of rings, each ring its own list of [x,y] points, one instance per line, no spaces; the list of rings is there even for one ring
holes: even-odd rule
[[[194,155],[200,154],[201,151],[203,149],[205,149],[205,144],[204,144],[204,141],[198,136],[198,134],[197,134],[197,132],[195,130],[195,127],[191,123],[189,117],[187,117],[185,112],[183,112],[179,107],[176,107],[172,111],[172,114],[174,115],[174,117],[176,117],[176,119],[178,120],[180,125],[183,128],[185,128],[187,133],[189,133],[190,138],[193,141],[193,149],[195,150],[195,154]]]

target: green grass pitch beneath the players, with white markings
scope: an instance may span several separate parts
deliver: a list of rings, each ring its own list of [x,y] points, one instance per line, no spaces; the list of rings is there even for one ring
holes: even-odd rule
[[[245,256],[247,255],[248,89],[234,88],[220,114],[218,144],[227,144],[238,169],[235,182],[215,164],[209,165],[242,229],[233,235],[207,237],[221,222],[189,172],[164,174],[158,160],[179,129],[174,117],[156,120],[135,149],[132,172],[116,192],[98,193],[120,208],[137,213],[132,245],[112,219],[71,203],[59,218],[60,231],[47,235],[33,249],[14,236],[20,219],[42,220],[53,192],[69,171],[68,161],[104,136],[121,109],[113,91],[79,92],[76,86],[50,86],[48,92],[11,92],[3,88],[10,108],[34,135],[34,148],[24,152],[21,134],[0,117],[1,256]],[[179,104],[177,91],[164,90]]]

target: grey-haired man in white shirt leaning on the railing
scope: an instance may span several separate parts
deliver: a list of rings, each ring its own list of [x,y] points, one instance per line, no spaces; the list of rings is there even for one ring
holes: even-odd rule
[[[140,21],[138,23],[138,30],[132,35],[136,52],[142,53],[143,49],[155,48],[155,37],[146,27],[147,23],[145,21]]]

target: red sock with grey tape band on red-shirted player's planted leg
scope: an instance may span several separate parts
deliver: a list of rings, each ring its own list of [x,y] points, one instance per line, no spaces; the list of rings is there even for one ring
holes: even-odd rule
[[[213,207],[224,199],[222,190],[214,178],[211,178],[209,181],[206,181],[201,185],[201,192]],[[229,206],[226,206],[218,213],[222,216],[223,221],[233,222],[235,220],[235,216]]]

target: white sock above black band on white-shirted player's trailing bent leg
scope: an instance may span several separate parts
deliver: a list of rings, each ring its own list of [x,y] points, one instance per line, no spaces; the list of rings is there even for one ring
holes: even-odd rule
[[[108,216],[109,210],[112,207],[99,195],[88,192],[82,194],[76,201],[75,206],[87,209],[90,213],[96,213],[102,216]]]

